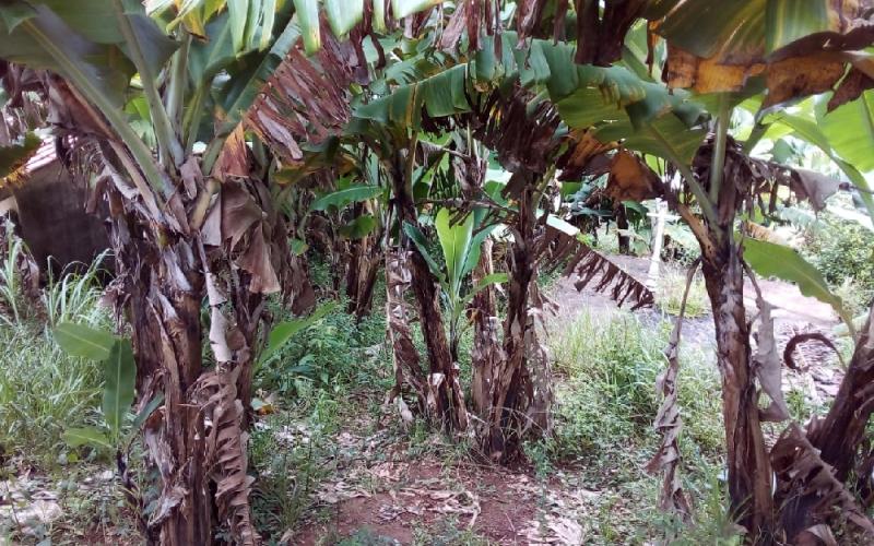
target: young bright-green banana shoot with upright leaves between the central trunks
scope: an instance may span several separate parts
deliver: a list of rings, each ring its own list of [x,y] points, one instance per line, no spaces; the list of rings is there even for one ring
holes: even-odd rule
[[[422,230],[404,223],[404,233],[416,246],[428,264],[432,274],[440,283],[442,299],[449,311],[449,349],[452,359],[458,361],[458,348],[463,333],[464,311],[473,297],[484,288],[507,281],[506,273],[495,273],[482,278],[475,286],[468,287],[468,275],[480,261],[482,244],[495,229],[495,225],[483,226],[483,212],[471,212],[460,221],[453,222],[449,209],[440,209],[434,216],[437,240],[442,250],[442,264],[428,249],[428,241]]]

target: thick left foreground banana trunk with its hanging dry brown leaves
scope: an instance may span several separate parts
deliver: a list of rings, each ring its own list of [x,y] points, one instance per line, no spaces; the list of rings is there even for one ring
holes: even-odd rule
[[[150,464],[160,476],[150,543],[213,544],[217,522],[228,524],[238,544],[258,543],[244,434],[255,345],[264,294],[290,284],[287,272],[303,274],[281,251],[284,226],[259,185],[225,180],[202,230],[169,235],[142,209],[126,209],[120,193],[107,191],[122,283],[111,292],[129,295],[117,304],[133,325],[140,404],[164,395],[164,406],[143,427]],[[236,215],[225,216],[227,211]],[[241,219],[240,211],[248,211],[250,221]],[[294,281],[286,293],[300,296],[305,278]],[[210,368],[202,358],[204,300]]]

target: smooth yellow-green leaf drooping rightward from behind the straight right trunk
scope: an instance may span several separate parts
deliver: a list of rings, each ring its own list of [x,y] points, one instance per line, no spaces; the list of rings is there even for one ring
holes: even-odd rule
[[[843,307],[843,301],[828,287],[822,273],[817,271],[794,249],[758,239],[744,239],[744,260],[764,277],[776,276],[795,283],[805,296],[828,304],[845,322],[852,317]]]

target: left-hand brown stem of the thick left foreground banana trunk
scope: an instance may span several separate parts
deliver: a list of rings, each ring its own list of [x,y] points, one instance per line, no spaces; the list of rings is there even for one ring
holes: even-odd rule
[[[123,222],[123,218],[120,221]],[[120,226],[119,223],[116,224]],[[127,238],[131,232],[113,230],[120,278],[130,278],[129,320],[137,356],[137,390],[141,400],[164,393],[164,410],[145,424],[145,446],[161,475],[157,510],[149,521],[150,544],[181,546],[211,544],[214,508],[204,460],[203,437],[197,407],[187,393],[203,369],[200,309],[204,278],[189,241],[179,241],[161,253],[179,264],[175,275],[139,257],[155,256],[153,234]],[[140,253],[144,252],[144,253]]]

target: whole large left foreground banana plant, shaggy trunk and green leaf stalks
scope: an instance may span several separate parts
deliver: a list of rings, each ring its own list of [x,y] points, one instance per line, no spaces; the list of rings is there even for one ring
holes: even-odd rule
[[[169,470],[157,487],[166,513],[146,538],[211,544],[211,523],[222,514],[236,542],[253,545],[258,536],[248,505],[243,436],[248,419],[238,408],[248,406],[251,392],[263,298],[283,288],[294,298],[303,283],[272,201],[265,174],[272,157],[247,128],[257,126],[253,120],[276,124],[265,112],[275,97],[262,91],[277,90],[287,97],[295,84],[306,124],[342,119],[345,104],[329,100],[320,108],[320,100],[332,95],[322,94],[326,85],[332,86],[332,96],[344,97],[349,82],[323,74],[311,81],[317,70],[304,67],[311,61],[295,45],[318,24],[320,9],[339,33],[363,13],[340,10],[339,2],[308,0],[145,4],[5,0],[0,2],[0,59],[48,71],[43,99],[48,105],[52,96],[56,130],[99,151],[96,190],[114,203],[109,221],[116,269],[130,287],[119,305],[134,324],[139,395],[151,399],[160,388],[166,395],[166,411],[146,424],[162,446],[170,447],[169,452],[149,450],[155,464]],[[319,54],[318,70],[344,73],[350,60],[338,51],[332,47]],[[300,70],[309,71],[303,84],[295,80]],[[299,151],[298,142],[312,136],[306,128],[285,131],[283,149]],[[146,254],[154,260],[143,260]],[[238,282],[231,282],[232,269]],[[204,298],[208,324],[201,324]],[[204,336],[222,365],[215,369],[203,366]],[[239,349],[228,337],[243,340],[246,347]],[[213,395],[220,394],[215,403]],[[228,441],[208,453],[192,432],[201,426]],[[182,475],[188,477],[178,483],[176,476]],[[225,494],[216,496],[216,490]],[[182,507],[203,509],[191,515]]]

